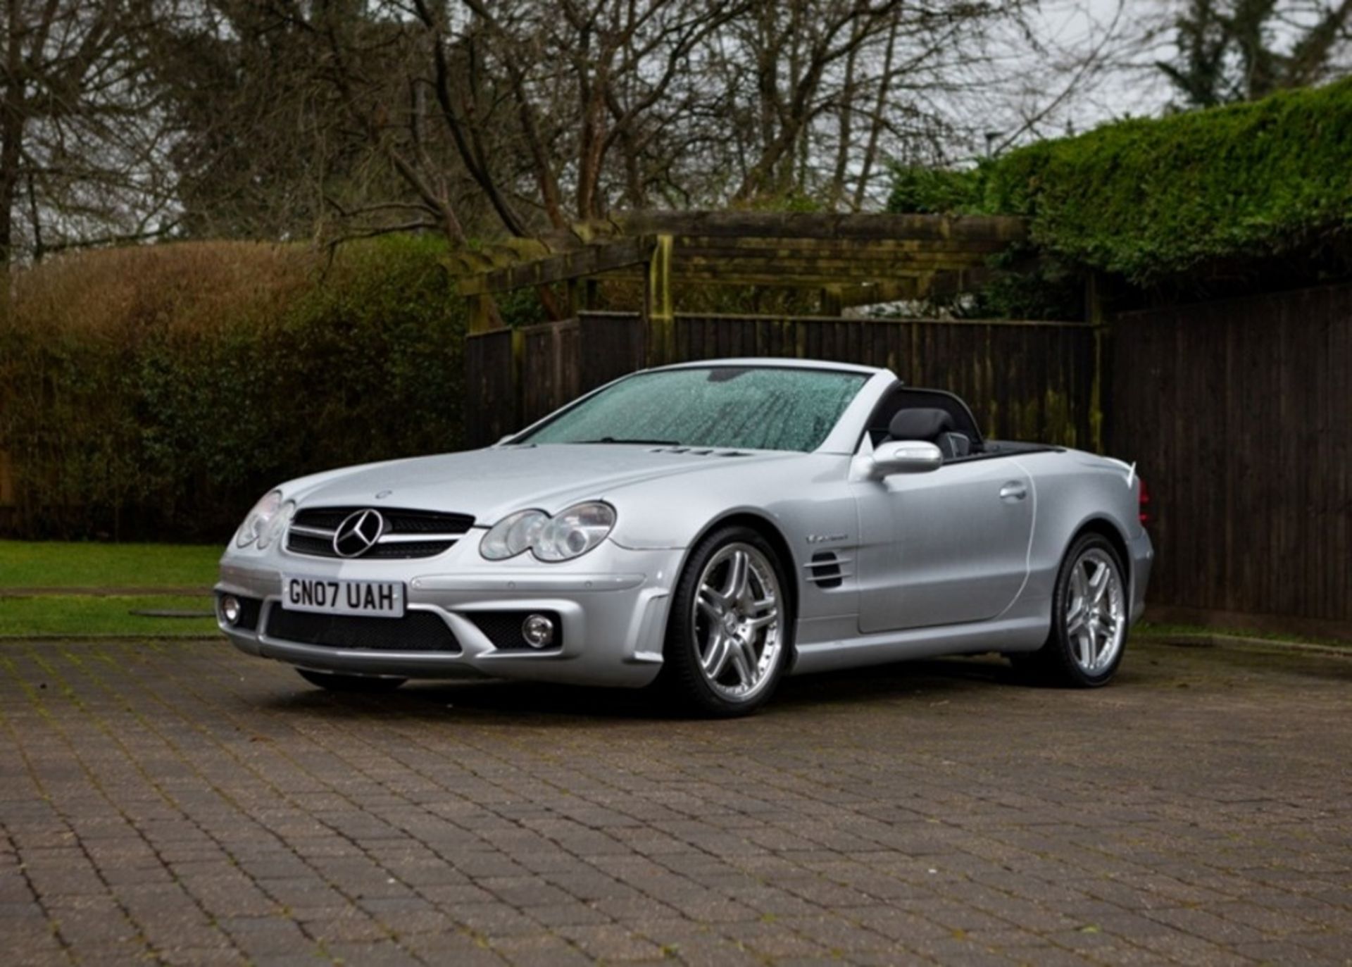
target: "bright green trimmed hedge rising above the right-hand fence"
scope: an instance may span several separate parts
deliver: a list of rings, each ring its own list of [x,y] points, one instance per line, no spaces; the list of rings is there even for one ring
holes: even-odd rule
[[[1137,283],[1299,252],[1352,223],[1352,81],[900,169],[891,207],[1028,215],[1044,252]]]

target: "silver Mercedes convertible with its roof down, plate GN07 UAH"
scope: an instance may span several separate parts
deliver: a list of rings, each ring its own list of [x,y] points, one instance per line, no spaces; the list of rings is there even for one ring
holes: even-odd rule
[[[886,369],[692,362],[487,449],[283,484],[216,613],[335,690],[657,686],[735,715],[784,675],[980,652],[1101,686],[1149,577],[1140,491],[1117,460],[983,440]]]

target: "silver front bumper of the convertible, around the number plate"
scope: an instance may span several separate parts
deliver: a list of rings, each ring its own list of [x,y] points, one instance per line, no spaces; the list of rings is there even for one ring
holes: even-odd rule
[[[541,564],[525,556],[500,564],[479,556],[473,530],[443,555],[415,560],[335,560],[231,546],[220,561],[216,622],[247,655],[314,671],[397,678],[502,678],[564,684],[642,687],[661,668],[671,588],[684,550],[630,550],[606,541],[583,557]],[[403,582],[406,611],[443,621],[458,652],[339,648],[268,633],[281,607],[281,575]],[[224,594],[260,602],[254,629],[220,614]],[[485,611],[546,611],[558,617],[560,644],[541,651],[498,648],[475,622]],[[369,621],[383,621],[373,618]]]

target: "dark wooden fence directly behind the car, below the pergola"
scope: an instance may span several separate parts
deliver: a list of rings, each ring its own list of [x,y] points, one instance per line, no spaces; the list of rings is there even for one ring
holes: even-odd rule
[[[645,365],[737,356],[888,367],[969,400],[991,437],[1101,442],[1096,331],[1083,323],[677,315],[668,338],[637,314],[470,335],[469,445],[492,442]]]

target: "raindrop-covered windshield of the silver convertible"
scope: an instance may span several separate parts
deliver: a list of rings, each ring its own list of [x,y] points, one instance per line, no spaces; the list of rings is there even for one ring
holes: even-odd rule
[[[637,373],[512,442],[815,450],[867,379],[772,367]]]

